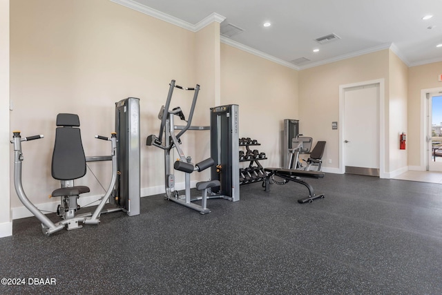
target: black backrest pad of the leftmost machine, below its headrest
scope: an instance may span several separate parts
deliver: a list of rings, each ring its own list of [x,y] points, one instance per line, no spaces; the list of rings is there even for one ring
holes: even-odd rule
[[[52,153],[52,177],[57,180],[74,180],[85,174],[86,157],[81,143],[80,129],[57,127],[54,153]]]

